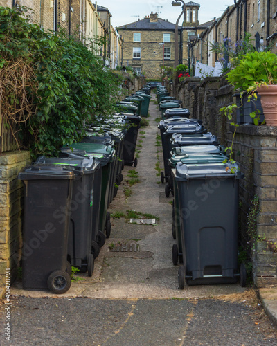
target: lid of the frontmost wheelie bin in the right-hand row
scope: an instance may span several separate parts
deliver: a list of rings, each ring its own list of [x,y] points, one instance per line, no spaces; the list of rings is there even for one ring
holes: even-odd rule
[[[175,167],[177,181],[189,181],[191,179],[241,179],[243,178],[236,163],[232,164],[235,172],[231,173],[231,164],[227,163],[208,163],[208,164],[182,164],[178,163]]]

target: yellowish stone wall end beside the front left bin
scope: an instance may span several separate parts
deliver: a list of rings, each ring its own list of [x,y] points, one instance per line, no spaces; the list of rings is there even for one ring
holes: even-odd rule
[[[0,298],[5,293],[6,268],[10,268],[13,281],[20,261],[24,188],[17,175],[27,163],[29,152],[6,152],[0,156]]]

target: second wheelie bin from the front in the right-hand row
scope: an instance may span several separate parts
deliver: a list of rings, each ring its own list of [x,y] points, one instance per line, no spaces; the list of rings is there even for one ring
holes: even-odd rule
[[[182,262],[182,249],[181,249],[181,229],[180,229],[180,221],[179,221],[179,195],[177,190],[177,183],[174,179],[175,176],[175,167],[178,163],[186,164],[186,165],[199,165],[199,164],[213,164],[213,163],[222,163],[223,161],[227,161],[229,159],[228,156],[224,155],[221,150],[213,145],[211,147],[211,152],[213,154],[209,154],[208,152],[199,152],[193,154],[183,154],[172,156],[169,160],[171,174],[170,174],[170,182],[167,184],[168,189],[172,189],[174,191],[174,203],[172,210],[172,236],[174,239],[177,239],[177,244],[172,246],[172,262],[176,266],[178,264],[178,260],[180,259],[180,263]],[[169,191],[168,191],[169,195]]]

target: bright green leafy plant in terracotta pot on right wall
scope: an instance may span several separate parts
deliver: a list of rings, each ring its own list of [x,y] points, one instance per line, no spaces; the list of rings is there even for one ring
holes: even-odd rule
[[[269,51],[255,51],[242,57],[235,69],[226,75],[226,79],[235,89],[240,91],[242,98],[247,92],[251,102],[261,97],[261,104],[267,125],[277,126],[277,57]],[[253,110],[249,115],[258,125],[259,109]]]

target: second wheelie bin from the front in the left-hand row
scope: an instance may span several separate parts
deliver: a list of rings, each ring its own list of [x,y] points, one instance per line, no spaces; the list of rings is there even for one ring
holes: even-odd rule
[[[73,181],[67,259],[71,266],[77,267],[82,273],[87,271],[87,274],[91,276],[94,257],[96,257],[91,244],[96,239],[99,224],[100,194],[96,188],[101,185],[99,162],[93,157],[46,158],[39,156],[36,163],[74,166],[83,172],[82,179]]]

